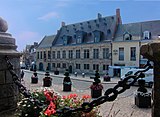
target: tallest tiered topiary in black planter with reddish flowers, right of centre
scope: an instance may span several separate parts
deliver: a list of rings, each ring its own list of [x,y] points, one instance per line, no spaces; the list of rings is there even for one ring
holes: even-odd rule
[[[92,98],[98,98],[102,95],[102,89],[103,85],[100,81],[100,75],[98,73],[98,70],[95,71],[95,78],[93,84],[90,86],[91,89],[91,97]]]

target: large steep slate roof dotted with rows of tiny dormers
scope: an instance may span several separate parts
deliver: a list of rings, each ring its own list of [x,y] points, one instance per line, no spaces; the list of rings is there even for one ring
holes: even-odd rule
[[[82,31],[86,34],[84,43],[93,43],[93,32],[98,30],[103,33],[103,39],[101,41],[105,42],[111,40],[114,30],[116,27],[116,15],[101,17],[94,20],[79,22],[75,24],[62,26],[53,46],[63,45],[63,36],[71,36],[72,39],[69,45],[76,44],[76,32]],[[108,31],[110,30],[110,31]],[[110,33],[108,33],[110,32]],[[82,43],[82,44],[84,44]]]

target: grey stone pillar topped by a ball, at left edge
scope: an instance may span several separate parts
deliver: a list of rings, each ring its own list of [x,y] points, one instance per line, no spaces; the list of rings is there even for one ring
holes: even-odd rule
[[[15,39],[6,33],[7,22],[0,17],[0,112],[14,109],[17,106],[18,88],[7,69],[5,56],[14,65],[14,71],[20,75],[20,53],[16,51]]]

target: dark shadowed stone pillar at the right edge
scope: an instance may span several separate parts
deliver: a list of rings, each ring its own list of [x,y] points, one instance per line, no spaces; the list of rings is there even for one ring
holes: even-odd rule
[[[160,117],[160,42],[143,45],[140,52],[141,55],[154,63],[152,117]]]

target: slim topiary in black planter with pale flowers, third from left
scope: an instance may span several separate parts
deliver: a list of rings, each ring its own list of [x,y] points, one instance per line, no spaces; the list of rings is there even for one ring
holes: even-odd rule
[[[71,82],[71,79],[69,77],[68,69],[66,69],[64,75],[65,75],[65,77],[63,79],[63,91],[71,91],[72,82]]]

